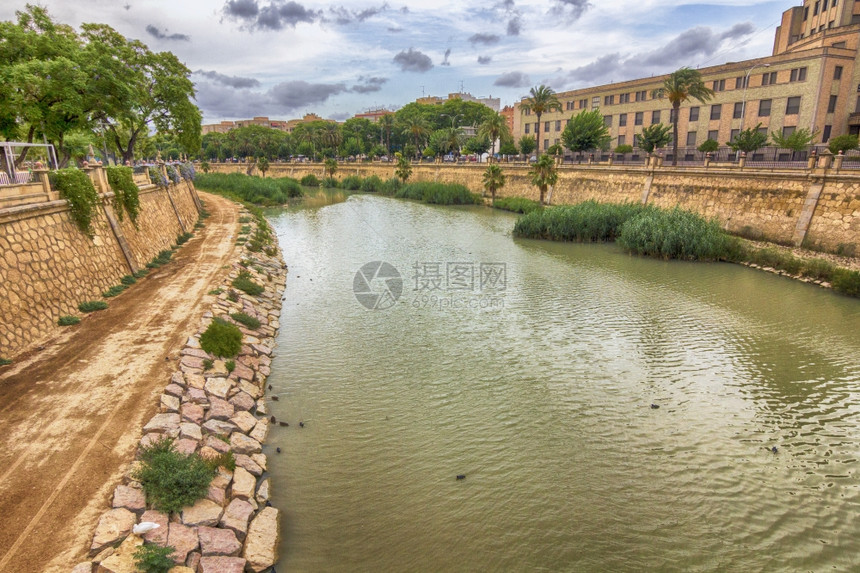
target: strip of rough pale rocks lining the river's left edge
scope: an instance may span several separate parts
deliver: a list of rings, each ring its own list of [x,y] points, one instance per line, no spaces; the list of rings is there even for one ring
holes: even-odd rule
[[[262,294],[232,290],[230,282],[243,270],[265,287]],[[143,543],[175,549],[172,557],[177,566],[172,573],[260,573],[277,562],[279,511],[269,503],[271,486],[263,453],[269,419],[264,394],[286,276],[280,252],[274,256],[243,252],[224,283],[212,285],[223,292],[213,296],[198,332],[188,338],[179,370],[161,394],[159,413],[143,428],[141,446],[170,437],[185,454],[216,457],[233,452],[236,469],[219,468],[205,499],[167,515],[147,509],[143,489],[133,477],[139,462],[132,463],[114,490],[111,509],[98,521],[91,561],[78,564],[73,573],[136,572],[133,554]],[[237,302],[228,298],[231,292],[238,295]],[[261,326],[249,330],[235,323],[230,318],[235,312],[257,318]],[[200,348],[200,334],[214,318],[234,322],[242,331],[242,349],[232,372],[223,360]],[[212,368],[205,370],[204,360],[211,360]],[[135,524],[146,521],[160,527],[140,536],[132,533]]]

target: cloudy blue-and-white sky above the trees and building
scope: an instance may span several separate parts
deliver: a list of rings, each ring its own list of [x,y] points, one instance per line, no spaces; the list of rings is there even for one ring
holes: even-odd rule
[[[31,2],[34,0],[30,0]],[[706,0],[704,0],[706,1]],[[204,123],[346,119],[465,91],[556,91],[769,55],[788,1],[39,0],[110,24],[194,73]],[[25,2],[0,0],[11,20]]]

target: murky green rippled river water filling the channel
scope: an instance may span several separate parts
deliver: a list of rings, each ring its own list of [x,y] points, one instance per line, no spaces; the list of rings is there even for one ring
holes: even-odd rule
[[[273,218],[284,569],[856,568],[860,303],[513,221],[370,196]],[[385,311],[353,295],[371,261],[403,278]],[[434,264],[437,294],[500,304],[422,304]]]

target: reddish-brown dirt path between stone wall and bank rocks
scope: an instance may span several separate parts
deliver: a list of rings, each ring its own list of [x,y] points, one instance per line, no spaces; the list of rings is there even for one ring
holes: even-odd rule
[[[0,572],[86,559],[202,299],[236,256],[237,205],[201,195],[211,216],[168,265],[0,370]]]

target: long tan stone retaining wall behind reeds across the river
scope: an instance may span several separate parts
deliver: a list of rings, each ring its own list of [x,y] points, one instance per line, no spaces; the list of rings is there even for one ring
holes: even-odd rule
[[[497,195],[538,199],[524,164],[500,164],[507,183]],[[216,172],[244,172],[242,164],[213,164]],[[460,183],[483,188],[486,165],[420,164],[412,180]],[[273,163],[267,174],[322,177],[319,163]],[[336,176],[383,180],[394,176],[393,163],[343,163]],[[818,189],[820,187],[820,190]],[[819,195],[820,193],[820,195]],[[727,230],[781,244],[804,242],[828,251],[860,254],[860,173],[833,169],[771,171],[725,168],[647,168],[622,165],[564,165],[552,191],[553,204],[594,199],[606,203],[649,202],[676,205],[716,217]]]

